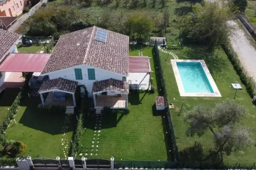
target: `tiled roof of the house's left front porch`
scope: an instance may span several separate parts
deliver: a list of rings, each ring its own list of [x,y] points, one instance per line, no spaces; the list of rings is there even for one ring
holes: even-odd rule
[[[78,82],[76,82],[76,81],[67,80],[64,78],[56,78],[56,79],[52,79],[52,80],[46,80],[42,83],[42,86],[40,87],[38,92],[58,89],[58,90],[63,90],[65,92],[74,93],[76,91],[77,84],[78,84]]]

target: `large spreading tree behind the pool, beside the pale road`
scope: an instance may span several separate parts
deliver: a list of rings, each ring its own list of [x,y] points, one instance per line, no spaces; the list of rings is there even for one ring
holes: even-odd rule
[[[233,34],[234,27],[228,24],[232,17],[233,13],[226,4],[218,1],[205,2],[204,7],[194,5],[192,12],[181,17],[180,29],[186,37],[205,43],[213,50]]]

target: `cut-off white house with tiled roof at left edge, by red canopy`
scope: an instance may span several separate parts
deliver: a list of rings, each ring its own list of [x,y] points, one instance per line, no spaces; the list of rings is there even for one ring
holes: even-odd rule
[[[16,46],[21,35],[0,29],[0,64],[6,59],[9,53],[18,53]],[[11,72],[0,72],[0,87],[6,82]],[[2,88],[0,88],[2,91]]]

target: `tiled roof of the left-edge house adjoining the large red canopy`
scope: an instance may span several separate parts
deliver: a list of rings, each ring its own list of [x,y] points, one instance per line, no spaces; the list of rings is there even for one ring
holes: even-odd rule
[[[20,34],[0,29],[0,60],[8,53],[20,36]]]

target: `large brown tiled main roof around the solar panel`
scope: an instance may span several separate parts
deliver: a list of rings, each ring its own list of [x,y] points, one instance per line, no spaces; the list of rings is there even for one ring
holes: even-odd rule
[[[106,43],[96,41],[98,27],[60,36],[42,73],[87,64],[128,75],[129,37],[108,31]]]

